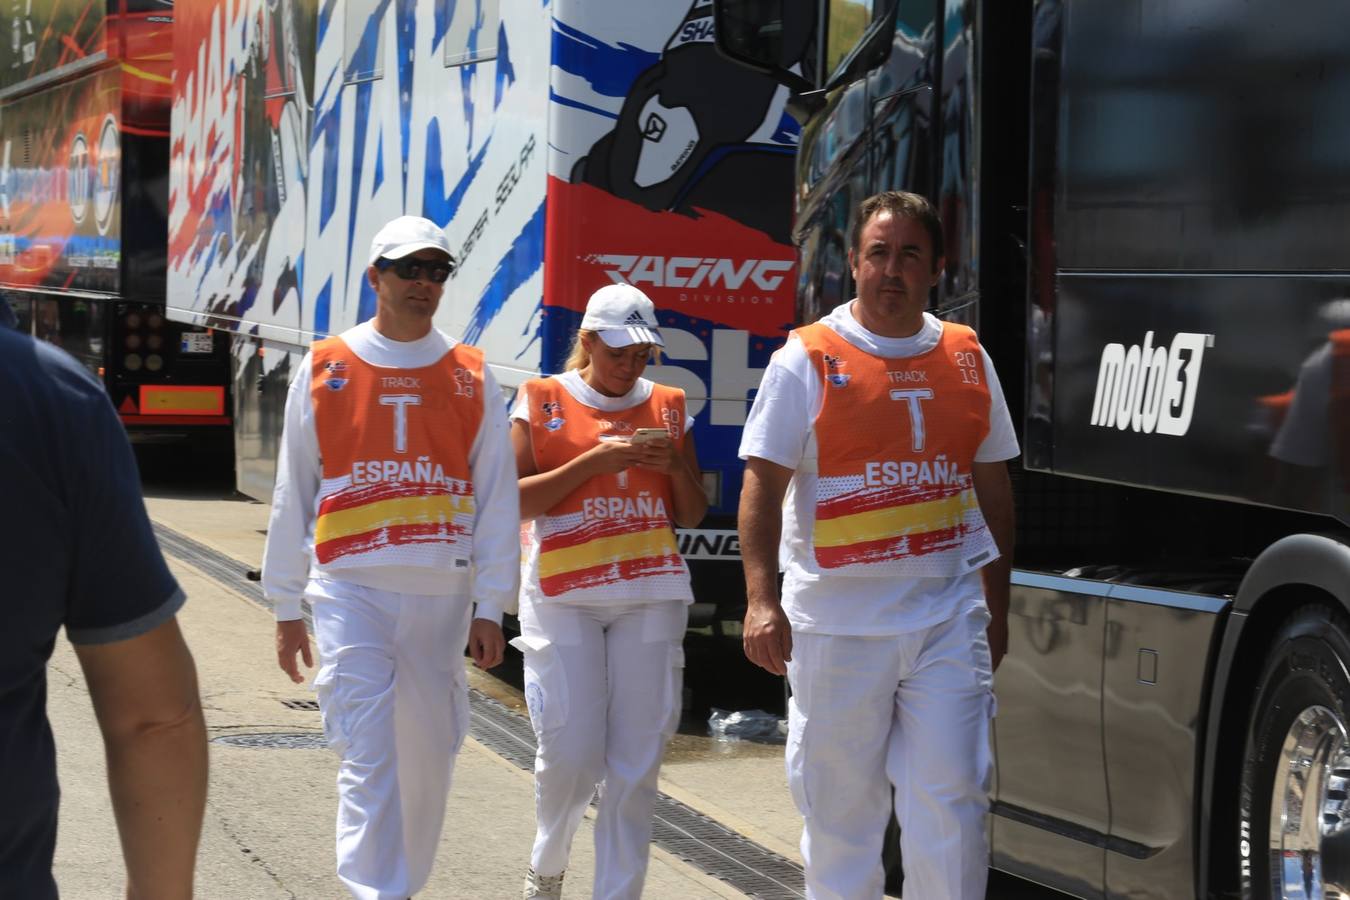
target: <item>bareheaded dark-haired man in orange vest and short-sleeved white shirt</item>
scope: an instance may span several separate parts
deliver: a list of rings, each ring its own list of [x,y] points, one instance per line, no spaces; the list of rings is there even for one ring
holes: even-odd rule
[[[857,298],[792,332],[745,424],[745,654],[792,687],[807,896],[882,896],[894,785],[905,895],[977,900],[1018,444],[975,333],[925,312],[927,200],[869,197],[852,243]]]

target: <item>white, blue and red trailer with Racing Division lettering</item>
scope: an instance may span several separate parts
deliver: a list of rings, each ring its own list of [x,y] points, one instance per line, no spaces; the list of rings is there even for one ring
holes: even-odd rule
[[[238,488],[271,495],[310,341],[374,314],[371,236],[425,216],[459,263],[435,324],[485,351],[504,403],[559,371],[595,289],[655,301],[666,348],[647,374],[684,389],[710,498],[679,534],[693,621],[738,646],[721,633],[744,609],[736,448],[795,314],[798,127],[786,88],[717,53],[710,0],[176,15],[169,312],[231,337]]]

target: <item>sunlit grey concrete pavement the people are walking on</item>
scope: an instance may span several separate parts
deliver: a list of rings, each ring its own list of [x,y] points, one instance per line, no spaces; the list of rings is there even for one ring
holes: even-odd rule
[[[225,471],[194,464],[190,455],[147,447],[138,457],[147,509],[190,598],[180,619],[197,658],[213,739],[198,896],[344,896],[331,874],[336,766],[323,749],[312,691],[292,685],[275,668],[270,613],[256,602],[256,583],[244,576],[261,560],[267,506],[234,494]],[[716,654],[701,660],[713,667],[702,672],[710,684],[728,677],[716,671]],[[470,668],[474,738],[459,757],[436,873],[421,896],[520,896],[533,835],[533,787],[518,667],[517,656],[493,675]],[[764,696],[765,706],[772,703],[772,691]],[[716,696],[699,699],[699,707],[717,704]],[[62,896],[113,896],[120,858],[97,726],[63,642],[53,660],[51,708],[63,787]],[[782,746],[713,741],[702,708],[686,716],[662,769],[644,896],[802,896],[801,819],[782,753]],[[590,895],[591,818],[574,845],[572,897]],[[995,877],[988,896],[1061,895]]]

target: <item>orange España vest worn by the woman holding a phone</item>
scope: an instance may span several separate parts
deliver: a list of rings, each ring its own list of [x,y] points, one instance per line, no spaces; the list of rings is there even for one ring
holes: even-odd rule
[[[587,406],[556,378],[525,382],[535,468],[547,472],[606,437],[664,428],[684,441],[684,391],[652,386],[645,403],[620,412]],[[671,479],[629,468],[597,475],[536,519],[539,587],[559,600],[614,596],[687,599],[688,568],[671,528]]]

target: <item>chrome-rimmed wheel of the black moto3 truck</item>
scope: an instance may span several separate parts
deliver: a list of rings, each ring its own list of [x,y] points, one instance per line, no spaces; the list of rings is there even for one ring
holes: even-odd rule
[[[1305,606],[1266,654],[1238,796],[1242,896],[1350,900],[1350,618]]]

